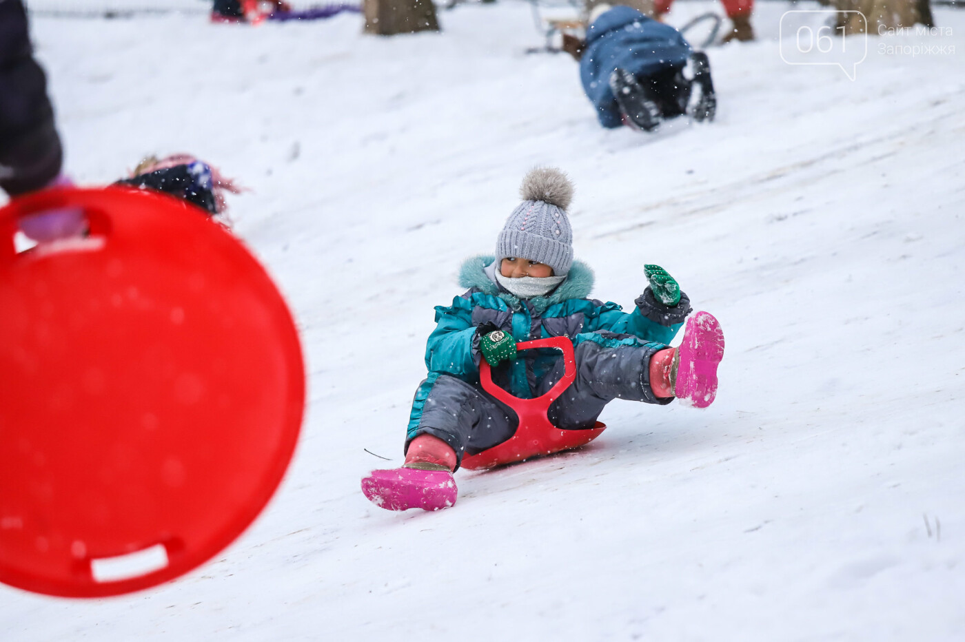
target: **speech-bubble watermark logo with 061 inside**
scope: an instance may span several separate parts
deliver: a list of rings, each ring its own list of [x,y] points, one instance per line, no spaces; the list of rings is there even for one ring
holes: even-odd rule
[[[842,15],[856,13],[857,15]],[[820,20],[821,17],[824,20]],[[861,20],[862,33],[844,36],[847,20]],[[788,65],[837,65],[850,80],[868,58],[868,18],[857,11],[794,10],[781,16],[781,60]]]

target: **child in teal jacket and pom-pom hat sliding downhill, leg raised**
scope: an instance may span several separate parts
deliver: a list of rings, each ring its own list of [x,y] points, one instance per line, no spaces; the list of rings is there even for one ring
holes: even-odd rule
[[[555,169],[523,179],[523,202],[510,214],[495,256],[467,260],[460,282],[469,290],[435,308],[436,329],[426,350],[427,379],[416,390],[405,438],[405,464],[374,470],[363,492],[390,510],[436,510],[455,503],[453,472],[474,455],[512,437],[516,415],[480,386],[485,359],[501,388],[534,398],[560,380],[558,353],[527,351],[516,342],[548,336],[572,339],[577,376],[550,406],[549,420],[565,430],[593,428],[613,399],[708,406],[717,390],[724,334],[698,312],[679,348],[670,348],[690,313],[690,301],[659,266],[646,266],[649,286],[629,314],[587,296],[593,272],[573,260],[566,207],[572,185]],[[548,351],[547,351],[548,352]]]

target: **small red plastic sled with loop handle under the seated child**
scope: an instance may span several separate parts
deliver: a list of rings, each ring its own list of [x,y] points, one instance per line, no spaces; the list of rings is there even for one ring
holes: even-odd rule
[[[492,383],[492,373],[489,363],[480,361],[480,381],[483,389],[496,397],[519,416],[519,427],[509,440],[483,450],[483,452],[462,458],[462,468],[479,470],[492,468],[501,464],[520,462],[537,455],[550,455],[554,452],[577,448],[590,443],[603,432],[606,425],[596,422],[593,428],[586,430],[563,430],[557,428],[546,416],[550,404],[556,401],[566,388],[576,380],[576,359],[573,356],[573,344],[565,336],[523,341],[516,344],[517,350],[531,350],[533,348],[558,348],[563,351],[564,375],[550,388],[546,394],[536,399],[520,399]]]

